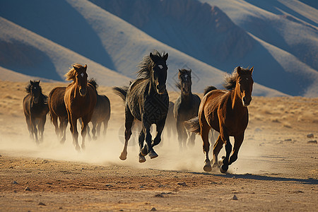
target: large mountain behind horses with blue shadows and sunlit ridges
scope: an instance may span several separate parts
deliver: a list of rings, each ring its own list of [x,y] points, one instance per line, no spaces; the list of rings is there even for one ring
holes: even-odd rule
[[[318,96],[314,68],[211,2],[16,0],[1,1],[0,16],[6,73],[64,81],[69,66],[80,62],[101,85],[124,85],[136,78],[142,57],[158,49],[169,54],[170,90],[177,69],[192,69],[193,90],[202,92],[222,88],[225,73],[240,65],[254,66],[254,95]]]

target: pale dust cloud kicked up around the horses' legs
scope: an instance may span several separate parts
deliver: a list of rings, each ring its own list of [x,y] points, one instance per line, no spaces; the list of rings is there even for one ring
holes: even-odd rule
[[[200,136],[196,136],[194,146],[188,146],[181,150],[177,141],[177,135],[172,134],[168,137],[164,131],[161,143],[154,147],[159,157],[151,159],[146,156],[146,163],[139,163],[139,132],[136,130],[133,131],[127,149],[127,159],[122,161],[119,159],[119,155],[124,146],[124,127],[120,123],[114,123],[112,119],[110,120],[107,135],[101,135],[98,140],[88,139],[88,136],[86,136],[86,149],[81,150],[81,152],[76,151],[73,146],[69,126],[66,129],[66,141],[63,144],[59,143],[59,139],[54,133],[54,126],[50,123],[49,119],[45,125],[44,141],[39,145],[30,139],[25,123],[19,122],[17,129],[20,130],[16,133],[11,131],[10,134],[4,134],[0,139],[0,149],[10,152],[11,155],[76,161],[96,165],[119,165],[158,170],[204,172],[205,155],[202,151]],[[78,129],[80,129],[80,126],[78,126]],[[78,132],[78,141],[81,146],[80,130]],[[152,134],[154,138],[155,132],[153,131]],[[209,152],[210,159],[212,159],[213,143]],[[228,172],[232,174],[257,172],[260,164],[257,166],[257,170],[255,170],[255,167],[251,164],[252,162],[250,162],[250,160],[257,158],[257,154],[257,151],[254,151],[252,146],[248,146],[248,144],[246,146],[243,143],[237,162],[230,165]],[[222,155],[225,155],[224,148],[220,151],[219,158]],[[218,168],[213,169],[212,172],[220,173]]]

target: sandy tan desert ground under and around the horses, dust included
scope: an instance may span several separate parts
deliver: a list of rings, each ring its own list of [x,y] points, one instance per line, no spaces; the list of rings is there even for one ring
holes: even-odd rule
[[[127,159],[119,160],[124,105],[109,87],[98,88],[112,107],[105,137],[87,139],[77,152],[69,126],[61,144],[47,115],[36,145],[22,108],[27,84],[0,81],[0,211],[317,210],[318,98],[253,97],[238,160],[221,174],[204,172],[199,136],[181,151],[177,136],[165,132],[159,157],[140,164],[133,135]],[[40,84],[46,95],[66,85]],[[170,100],[177,95],[170,91]]]

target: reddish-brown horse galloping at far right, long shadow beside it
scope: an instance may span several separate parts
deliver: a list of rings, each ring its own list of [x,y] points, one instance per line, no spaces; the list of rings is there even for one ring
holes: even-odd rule
[[[201,101],[199,117],[189,120],[192,131],[201,134],[206,160],[204,171],[210,172],[211,162],[208,159],[210,145],[208,131],[213,128],[220,133],[213,146],[213,167],[218,166],[218,153],[225,144],[225,158],[220,172],[226,172],[228,166],[237,160],[237,153],[242,145],[245,129],[249,122],[247,106],[252,100],[253,78],[252,69],[241,69],[238,66],[232,75],[225,78],[225,88],[231,90],[211,90]],[[230,137],[234,136],[234,148]],[[230,155],[232,151],[232,155]]]

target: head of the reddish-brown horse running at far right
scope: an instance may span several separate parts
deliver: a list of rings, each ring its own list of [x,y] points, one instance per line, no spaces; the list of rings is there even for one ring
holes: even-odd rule
[[[249,106],[249,103],[252,101],[252,90],[253,90],[253,72],[254,66],[252,69],[241,69],[240,66],[237,67],[237,83],[236,88],[239,93],[239,97],[242,100],[243,106]]]

